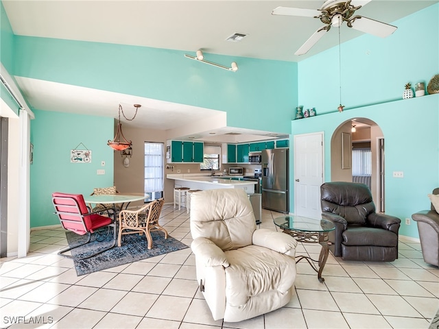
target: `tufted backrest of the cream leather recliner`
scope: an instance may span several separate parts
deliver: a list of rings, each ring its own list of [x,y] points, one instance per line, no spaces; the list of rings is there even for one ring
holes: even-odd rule
[[[220,188],[191,195],[192,239],[204,237],[222,250],[252,244],[256,220],[246,191]]]

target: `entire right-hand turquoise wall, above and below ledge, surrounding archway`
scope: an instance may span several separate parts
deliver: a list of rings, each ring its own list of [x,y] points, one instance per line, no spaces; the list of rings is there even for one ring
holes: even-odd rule
[[[292,121],[293,135],[324,132],[325,181],[331,181],[337,127],[355,117],[375,121],[385,138],[385,212],[402,219],[400,234],[415,238],[416,225],[406,226],[405,218],[428,209],[427,193],[439,186],[439,95],[403,100],[402,94],[407,82],[427,85],[439,73],[438,16],[439,4],[431,5],[394,22],[398,29],[388,38],[365,34],[342,44],[342,113],[337,68],[331,81],[322,74],[337,66],[338,47],[299,62],[299,103],[316,107],[318,116]],[[393,171],[403,171],[404,178],[393,178]]]

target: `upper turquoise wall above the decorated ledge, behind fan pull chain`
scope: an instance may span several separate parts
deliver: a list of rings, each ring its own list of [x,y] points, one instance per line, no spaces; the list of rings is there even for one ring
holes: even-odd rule
[[[407,82],[429,82],[439,73],[439,4],[399,21],[387,38],[364,34],[342,43],[342,103],[357,108],[401,99]],[[343,39],[343,30],[341,27]],[[324,38],[338,38],[337,29]],[[318,114],[340,104],[339,50],[307,58],[298,64],[299,104]]]

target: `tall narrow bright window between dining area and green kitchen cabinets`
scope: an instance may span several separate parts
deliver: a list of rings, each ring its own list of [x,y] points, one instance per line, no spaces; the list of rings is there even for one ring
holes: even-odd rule
[[[145,142],[145,193],[152,201],[163,196],[163,143]]]

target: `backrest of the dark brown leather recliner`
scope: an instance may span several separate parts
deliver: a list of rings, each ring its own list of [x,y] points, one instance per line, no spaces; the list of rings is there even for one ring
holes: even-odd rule
[[[322,211],[333,212],[346,219],[348,225],[366,225],[375,212],[372,193],[366,184],[327,182],[320,186]]]

